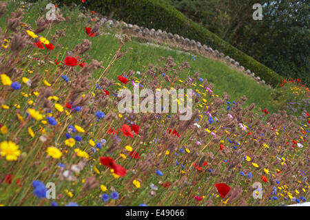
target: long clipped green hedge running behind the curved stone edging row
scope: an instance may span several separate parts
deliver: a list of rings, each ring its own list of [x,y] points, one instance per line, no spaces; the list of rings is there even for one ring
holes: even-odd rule
[[[109,15],[114,10],[113,18],[115,19],[122,19],[127,23],[146,28],[161,29],[172,34],[179,34],[223,52],[273,87],[282,82],[282,76],[223,41],[216,34],[203,28],[202,25],[194,23],[165,0],[86,0],[85,3],[82,3],[81,0],[61,0],[59,3],[85,5],[87,9],[105,15]]]

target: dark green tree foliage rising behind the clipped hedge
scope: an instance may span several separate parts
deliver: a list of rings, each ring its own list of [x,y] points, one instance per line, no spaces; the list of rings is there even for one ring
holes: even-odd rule
[[[310,85],[309,1],[169,0],[189,19],[285,78]],[[262,5],[263,19],[251,19],[252,5]]]

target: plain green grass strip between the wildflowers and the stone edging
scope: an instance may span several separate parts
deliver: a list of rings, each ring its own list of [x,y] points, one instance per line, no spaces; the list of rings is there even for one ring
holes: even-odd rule
[[[10,1],[9,1],[10,2]],[[39,16],[45,14],[45,3],[39,3],[35,5],[30,10],[26,10],[24,14],[24,20],[27,23],[30,23],[35,29],[36,21]],[[12,3],[8,5],[9,11],[14,11],[17,8],[17,4]],[[74,9],[69,11],[68,8],[61,8],[61,13],[63,17],[70,16],[72,21],[60,23],[59,28],[66,28],[66,34],[63,39],[60,39],[59,43],[65,45],[59,50],[57,58],[59,61],[62,61],[65,57],[65,52],[72,50],[77,43],[81,43],[82,39],[87,38],[85,34],[84,27],[90,27],[92,25],[87,24],[85,19],[78,18],[79,11]],[[78,20],[78,22],[76,22]],[[67,27],[65,27],[65,25]],[[0,27],[3,29],[5,27],[5,18],[0,19]],[[102,36],[91,38],[93,45],[90,50],[90,59],[85,60],[86,63],[90,62],[92,58],[99,61],[103,61],[103,66],[107,66],[110,61],[110,58],[114,55],[118,49],[118,39],[114,36],[116,30],[105,29],[107,32],[112,32],[112,34],[104,34]],[[41,33],[44,35],[46,33]],[[50,31],[50,34],[53,34],[54,30]],[[50,35],[49,34],[49,35]],[[49,36],[48,35],[48,36]],[[98,46],[100,45],[100,46]],[[129,54],[126,54],[110,69],[110,74],[108,78],[114,78],[121,74],[122,72],[127,72],[129,69],[143,72],[142,65],[147,67],[150,63],[156,65],[156,61],[161,56],[172,56],[176,65],[180,65],[183,61],[188,61],[189,65],[192,67],[190,72],[182,72],[183,79],[187,76],[193,76],[194,72],[200,72],[200,77],[207,78],[209,82],[214,83],[214,92],[215,94],[221,95],[223,91],[226,91],[227,94],[231,97],[232,100],[236,100],[241,96],[247,96],[247,104],[255,102],[258,104],[258,107],[262,109],[268,108],[269,112],[272,113],[278,108],[275,104],[272,103],[272,97],[270,90],[258,85],[254,80],[251,80],[249,77],[244,74],[236,72],[234,69],[231,69],[225,63],[220,61],[214,61],[210,58],[205,58],[202,56],[195,56],[195,60],[192,55],[187,53],[180,53],[177,50],[167,50],[164,47],[152,47],[147,46],[143,43],[140,43],[138,39],[132,39],[129,43],[126,44],[127,47],[132,47],[134,50],[130,50]],[[94,77],[99,76],[99,71],[94,73]]]

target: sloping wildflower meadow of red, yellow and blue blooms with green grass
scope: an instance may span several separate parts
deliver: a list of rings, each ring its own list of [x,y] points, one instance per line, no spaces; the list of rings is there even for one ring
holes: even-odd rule
[[[310,91],[300,79],[269,90],[236,71],[230,80],[218,61],[152,54],[91,8],[90,21],[67,6],[48,20],[47,3],[0,1],[1,206],[309,201]],[[192,98],[169,96],[161,110],[178,111],[158,113],[152,97],[133,95],[121,113],[119,92],[134,88]],[[180,120],[189,101],[192,117]]]

